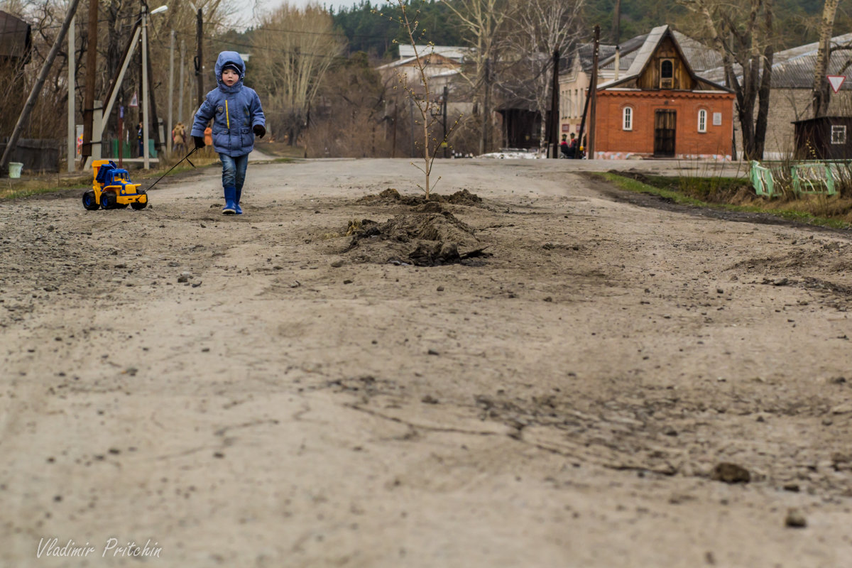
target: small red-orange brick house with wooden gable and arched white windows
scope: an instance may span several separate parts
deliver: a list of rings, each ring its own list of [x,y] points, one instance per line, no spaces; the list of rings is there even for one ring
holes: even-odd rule
[[[731,159],[734,94],[695,74],[669,26],[653,28],[596,96],[590,158]]]

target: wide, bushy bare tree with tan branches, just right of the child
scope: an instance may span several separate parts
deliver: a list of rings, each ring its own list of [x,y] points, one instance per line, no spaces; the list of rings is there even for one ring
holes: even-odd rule
[[[318,3],[298,9],[285,2],[262,19],[252,43],[252,82],[264,96],[268,125],[284,130],[294,146],[325,72],[343,52],[343,37]]]

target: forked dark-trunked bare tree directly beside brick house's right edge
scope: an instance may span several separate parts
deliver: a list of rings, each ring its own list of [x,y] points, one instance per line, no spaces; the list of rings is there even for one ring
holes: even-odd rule
[[[722,54],[725,81],[736,95],[746,159],[763,158],[774,56],[773,0],[749,0],[746,7],[723,0],[680,2],[699,17],[713,47]]]

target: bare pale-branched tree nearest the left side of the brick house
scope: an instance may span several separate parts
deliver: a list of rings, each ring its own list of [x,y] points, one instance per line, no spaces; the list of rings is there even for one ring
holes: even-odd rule
[[[552,95],[552,54],[567,53],[579,37],[579,23],[584,0],[513,0],[509,16],[512,32],[507,41],[515,62],[520,61],[527,73],[532,70],[528,85],[516,90],[515,95],[531,99],[541,114],[540,144],[547,144],[544,117],[550,108]],[[507,83],[508,85],[509,83]],[[511,89],[509,87],[509,89]]]

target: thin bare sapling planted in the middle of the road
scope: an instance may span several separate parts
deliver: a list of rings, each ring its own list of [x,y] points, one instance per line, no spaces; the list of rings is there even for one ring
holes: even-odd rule
[[[394,0],[400,7],[400,16],[393,17],[389,16],[389,20],[394,21],[399,24],[402,28],[403,32],[405,32],[405,36],[408,39],[408,42],[411,43],[412,48],[414,49],[414,66],[415,66],[415,81],[409,82],[408,76],[399,70],[396,71],[397,81],[399,83],[398,86],[394,86],[394,89],[398,89],[401,87],[406,90],[408,97],[412,100],[412,104],[414,108],[417,109],[416,117],[414,120],[414,124],[418,127],[417,129],[423,129],[421,133],[422,141],[417,141],[415,139],[414,147],[423,152],[423,165],[415,164],[412,162],[412,165],[423,172],[425,176],[425,180],[423,186],[417,184],[423,192],[426,194],[426,198],[429,199],[429,195],[434,189],[435,185],[438,181],[440,181],[440,177],[435,183],[431,183],[431,175],[432,175],[432,167],[435,164],[435,157],[438,154],[438,149],[443,147],[447,140],[449,139],[452,131],[456,129],[458,125],[458,121],[462,118],[462,115],[458,115],[455,121],[452,123],[452,127],[446,129],[446,133],[443,135],[443,138],[439,141],[437,135],[433,135],[434,127],[439,123],[442,118],[441,105],[446,104],[442,102],[437,97],[435,97],[435,93],[432,90],[432,86],[429,83],[429,76],[427,72],[427,66],[429,66],[429,60],[435,56],[435,44],[432,42],[425,44],[425,49],[423,49],[423,45],[417,44],[416,37],[423,37],[425,30],[420,30],[420,22],[417,20],[417,16],[419,16],[420,11],[417,10],[413,17],[409,17],[409,9],[411,6],[406,0]],[[379,15],[384,16],[385,14],[379,13]],[[396,40],[394,40],[396,43]],[[421,53],[421,51],[423,53]],[[412,84],[414,83],[414,84]]]

